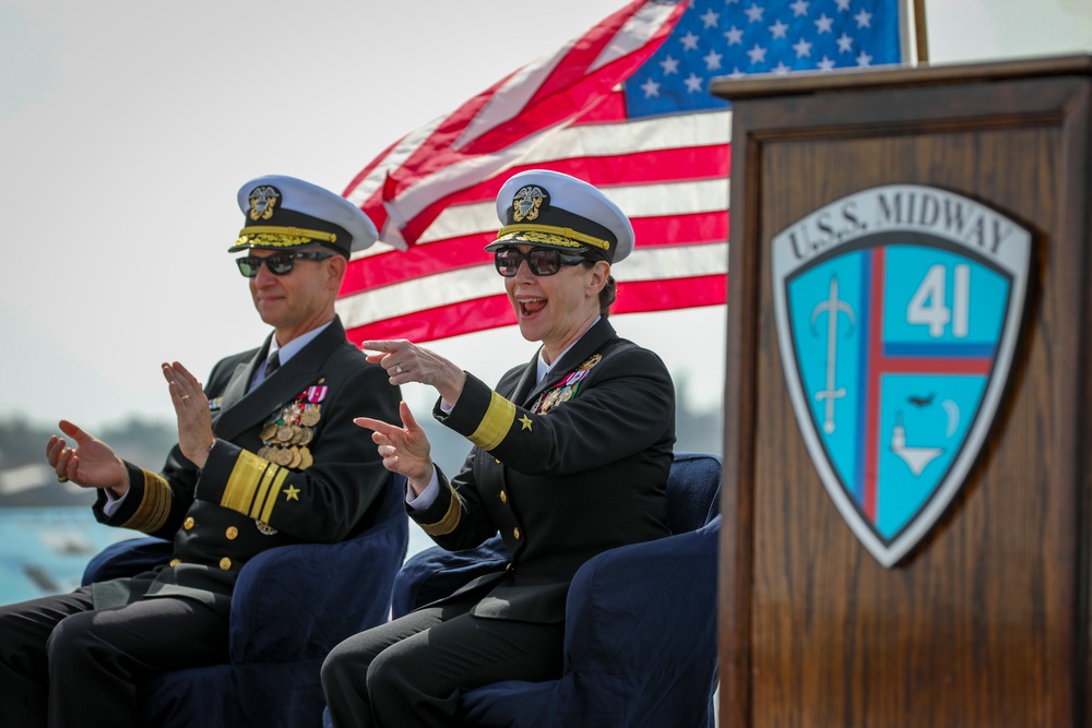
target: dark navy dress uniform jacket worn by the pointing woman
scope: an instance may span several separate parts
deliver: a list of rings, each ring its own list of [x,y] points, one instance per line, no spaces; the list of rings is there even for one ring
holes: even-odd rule
[[[569,583],[591,557],[669,535],[675,389],[660,357],[605,319],[538,385],[536,373],[537,355],[496,390],[467,374],[450,414],[437,404],[434,415],[476,446],[410,515],[449,550],[499,530],[508,568],[456,594],[480,595],[478,617],[550,623],[565,619]]]

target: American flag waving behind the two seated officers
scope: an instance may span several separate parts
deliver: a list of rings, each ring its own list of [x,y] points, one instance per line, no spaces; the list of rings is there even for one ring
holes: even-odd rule
[[[349,341],[510,325],[483,248],[517,171],[587,180],[633,223],[614,313],[727,300],[731,111],[714,77],[898,63],[899,0],[637,0],[411,132],[346,188],[380,228],[337,312]]]

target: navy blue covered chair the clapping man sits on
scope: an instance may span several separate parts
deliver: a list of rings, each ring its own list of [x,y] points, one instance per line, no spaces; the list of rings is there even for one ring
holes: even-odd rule
[[[321,726],[319,669],[327,653],[389,617],[408,542],[403,493],[392,476],[379,508],[348,539],[283,546],[248,562],[232,600],[230,661],[149,680],[141,685],[143,724]],[[83,583],[132,575],[169,558],[169,541],[120,541],[91,560]]]

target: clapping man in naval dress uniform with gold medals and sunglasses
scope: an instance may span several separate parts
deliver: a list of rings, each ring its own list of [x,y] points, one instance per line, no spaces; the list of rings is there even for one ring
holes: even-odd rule
[[[59,480],[95,489],[95,517],[174,540],[169,564],[134,578],[0,607],[0,725],[138,725],[149,673],[227,659],[239,571],[266,549],[344,539],[388,482],[353,418],[397,417],[399,391],[345,338],[334,300],[371,220],[290,177],[239,190],[229,252],[273,331],[221,360],[202,387],[163,365],[178,444],[159,472],[121,461],[61,421],[47,458]],[[48,717],[47,717],[48,716]]]

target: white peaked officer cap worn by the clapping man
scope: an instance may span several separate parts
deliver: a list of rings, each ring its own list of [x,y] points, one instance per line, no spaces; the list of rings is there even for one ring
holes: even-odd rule
[[[379,237],[375,224],[352,202],[295,177],[268,175],[239,188],[245,215],[239,239],[227,249],[290,250],[321,243],[345,258]]]

